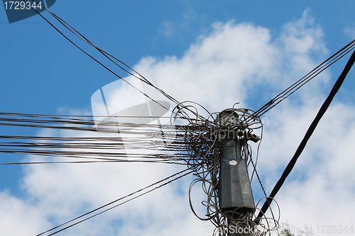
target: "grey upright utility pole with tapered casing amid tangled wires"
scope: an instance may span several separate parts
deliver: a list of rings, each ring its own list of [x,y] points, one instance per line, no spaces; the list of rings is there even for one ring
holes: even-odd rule
[[[238,130],[231,130],[231,127],[237,128],[239,125],[238,114],[233,110],[219,113],[219,122],[224,128],[220,141],[219,208],[238,221],[255,207],[246,161],[241,157],[241,144],[244,143],[241,139],[244,137],[239,138]],[[229,220],[228,235],[240,235],[237,227],[242,225],[232,225]]]

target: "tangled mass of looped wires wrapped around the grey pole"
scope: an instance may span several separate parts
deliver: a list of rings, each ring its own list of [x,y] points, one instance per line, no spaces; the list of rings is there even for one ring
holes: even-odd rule
[[[188,111],[186,110],[188,108]],[[250,176],[251,181],[254,176],[257,176],[258,184],[261,189],[263,185],[256,171],[258,154],[252,157],[252,148],[248,141],[258,142],[257,150],[262,138],[263,124],[261,119],[253,116],[253,111],[243,108],[230,108],[226,111],[233,113],[238,117],[238,122],[229,122],[228,125],[222,123],[220,118],[221,113],[209,113],[207,118],[203,118],[198,113],[199,108],[207,111],[197,103],[185,102],[180,103],[175,107],[175,118],[185,118],[187,124],[185,129],[185,145],[188,152],[187,164],[191,169],[194,169],[195,179],[190,184],[189,200],[192,212],[200,218],[200,220],[209,220],[214,226],[213,235],[228,235],[230,232],[238,232],[241,235],[266,235],[266,233],[275,230],[278,227],[278,217],[275,217],[271,210],[272,217],[267,218],[263,215],[263,219],[256,224],[256,210],[258,203],[253,209],[245,211],[244,206],[233,210],[222,210],[219,207],[219,167],[222,159],[221,148],[224,145],[223,140],[226,137],[238,140],[239,143],[237,152],[239,158],[245,159],[247,166],[252,171]],[[195,112],[192,112],[195,111]],[[232,119],[232,117],[231,117]],[[259,130],[261,137],[253,134]],[[207,209],[206,215],[201,217],[197,214],[192,206],[192,189],[195,185],[200,184],[202,191],[205,193],[206,199],[202,201],[202,205]],[[263,189],[266,196],[266,193]],[[263,199],[261,199],[263,200]],[[279,209],[278,209],[279,210]],[[278,216],[280,213],[278,212]]]

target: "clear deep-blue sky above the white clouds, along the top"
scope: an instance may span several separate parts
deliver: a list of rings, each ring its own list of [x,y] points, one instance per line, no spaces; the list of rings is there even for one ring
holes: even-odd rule
[[[355,27],[352,1],[277,1],[272,4],[263,1],[219,1],[218,4],[214,1],[203,4],[200,1],[173,4],[133,1],[116,4],[92,7],[88,3],[75,3],[68,7],[58,2],[53,12],[93,43],[131,65],[148,55],[181,57],[216,21],[250,22],[267,27],[271,35],[276,35],[285,22],[299,18],[309,8],[324,31],[330,52],[348,43],[351,37],[344,35],[344,30]],[[9,24],[4,9],[1,11],[1,64],[4,66],[1,86],[7,88],[1,94],[7,98],[4,111],[16,107],[23,113],[55,113],[58,107],[68,103],[89,108],[87,98],[92,92],[112,81],[108,72],[94,66],[95,62],[82,52],[73,52],[75,47],[40,16]],[[21,69],[16,64],[20,62]],[[40,72],[35,73],[38,70]],[[51,86],[45,86],[48,82]]]

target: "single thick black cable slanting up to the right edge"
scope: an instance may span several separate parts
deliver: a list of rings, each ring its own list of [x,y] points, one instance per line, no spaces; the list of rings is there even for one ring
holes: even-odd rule
[[[261,217],[266,213],[266,210],[268,210],[276,193],[278,193],[281,186],[285,182],[285,179],[287,178],[288,174],[290,174],[290,172],[292,171],[298,157],[300,157],[300,154],[305,149],[307,141],[310,139],[312,133],[315,131],[315,128],[317,127],[317,125],[320,122],[320,119],[322,118],[324,113],[327,111],[327,108],[329,108],[330,103],[332,103],[332,100],[334,99],[335,94],[337,94],[337,91],[339,90],[340,86],[342,86],[342,83],[344,82],[346,74],[348,74],[348,72],[351,69],[351,67],[353,66],[354,62],[355,62],[355,51],[353,52],[353,54],[349,58],[349,61],[346,63],[346,66],[345,66],[342,74],[340,74],[339,78],[337,79],[337,82],[335,82],[335,84],[332,88],[332,91],[330,91],[327,99],[325,99],[322,107],[320,108],[320,111],[318,111],[318,113],[317,113],[317,116],[312,121],[312,124],[310,125],[310,128],[308,128],[307,133],[305,134],[305,137],[303,137],[302,142],[298,146],[295,154],[293,155],[293,158],[288,163],[287,167],[285,168],[285,170],[284,170],[283,174],[281,175],[280,179],[278,180],[277,184],[274,186],[273,191],[271,191],[270,196],[268,196],[268,198],[266,198],[266,202],[263,204],[263,207],[261,208],[260,212],[258,213],[258,217],[255,220],[256,223],[258,223],[259,220],[261,219]]]

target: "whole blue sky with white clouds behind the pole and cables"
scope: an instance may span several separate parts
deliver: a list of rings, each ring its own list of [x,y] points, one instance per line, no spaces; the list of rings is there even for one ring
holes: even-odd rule
[[[70,6],[58,1],[51,8],[178,101],[196,101],[211,112],[236,102],[257,110],[310,72],[355,38],[351,9],[351,1],[128,1],[110,7],[95,1]],[[0,12],[1,111],[90,114],[94,91],[116,77],[39,16],[9,24],[5,11]],[[258,172],[267,193],[293,157],[348,57],[263,116]],[[354,225],[354,76],[353,69],[276,196],[280,222],[312,226],[317,235],[327,235],[327,228],[321,233],[322,225],[336,226],[338,235],[341,227]],[[94,135],[7,127],[1,127],[1,133]],[[1,154],[0,158],[8,162],[35,157]],[[136,163],[1,166],[0,234],[37,235],[182,168]],[[212,225],[190,210],[191,181],[185,177],[58,235],[212,235]],[[261,189],[253,186],[258,201]],[[202,193],[196,191],[194,199],[204,213],[199,203]]]

